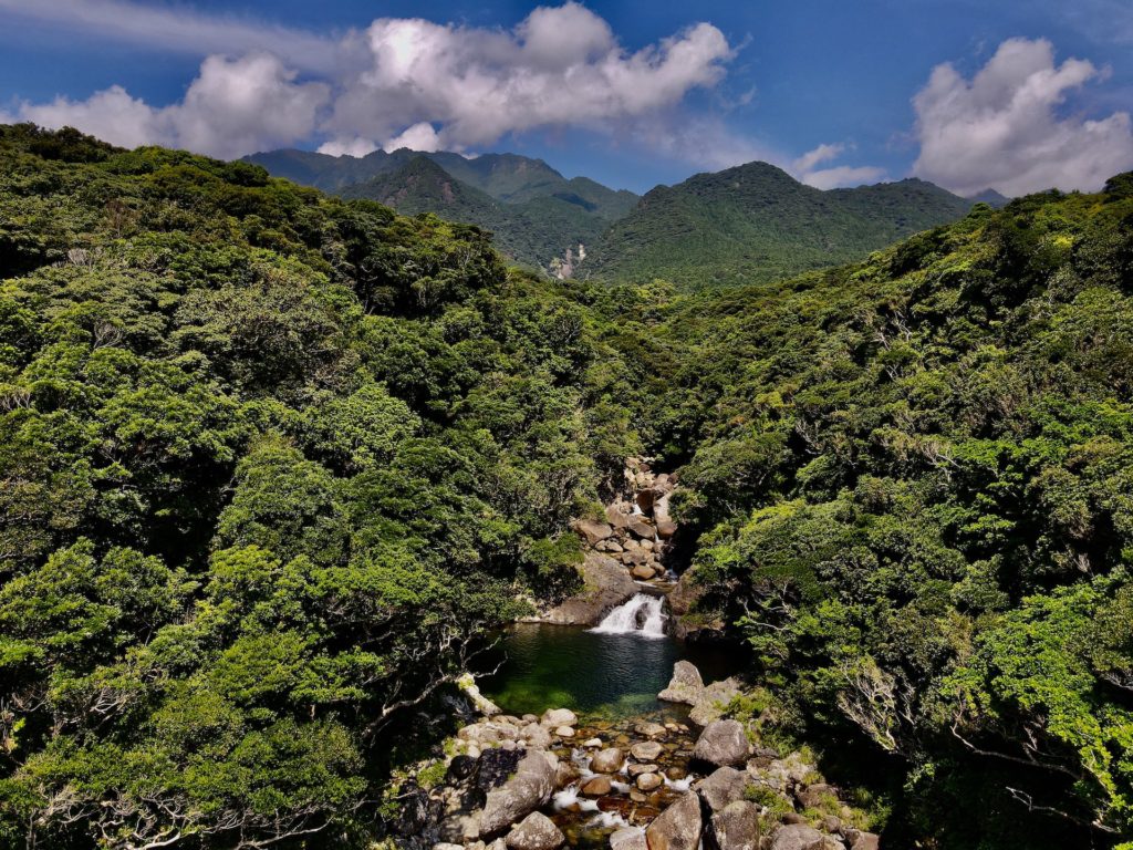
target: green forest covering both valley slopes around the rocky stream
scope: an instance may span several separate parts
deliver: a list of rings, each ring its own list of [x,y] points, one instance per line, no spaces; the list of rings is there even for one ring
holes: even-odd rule
[[[1133,175],[699,283],[0,127],[0,847],[372,847],[642,453],[886,847],[1133,841]]]

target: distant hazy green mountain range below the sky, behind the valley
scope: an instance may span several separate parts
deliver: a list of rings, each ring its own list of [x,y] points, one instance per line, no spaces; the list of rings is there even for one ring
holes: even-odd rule
[[[681,289],[769,281],[858,260],[954,221],[963,198],[917,179],[816,189],[766,162],[657,186],[644,197],[543,160],[400,148],[366,156],[280,150],[246,158],[276,177],[398,212],[478,224],[517,263],[561,278],[665,279]]]

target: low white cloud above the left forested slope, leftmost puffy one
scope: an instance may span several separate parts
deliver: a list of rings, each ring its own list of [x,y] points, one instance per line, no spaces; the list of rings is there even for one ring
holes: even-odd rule
[[[235,60],[210,57],[185,99],[170,107],[151,107],[111,86],[85,101],[23,103],[17,114],[44,127],[77,127],[125,147],[161,144],[236,158],[292,144],[314,131],[330,87],[295,78],[295,71],[270,53]]]

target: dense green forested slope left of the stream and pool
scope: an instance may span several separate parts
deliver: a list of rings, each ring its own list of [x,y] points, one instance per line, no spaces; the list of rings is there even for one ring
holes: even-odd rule
[[[0,845],[366,845],[577,581],[617,356],[477,228],[74,130],[0,128]]]

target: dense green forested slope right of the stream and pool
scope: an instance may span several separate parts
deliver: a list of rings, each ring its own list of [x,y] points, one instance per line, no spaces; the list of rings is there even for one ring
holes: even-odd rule
[[[744,637],[767,719],[889,772],[883,845],[1130,840],[1133,175],[651,291],[612,339],[702,534],[689,621]]]

